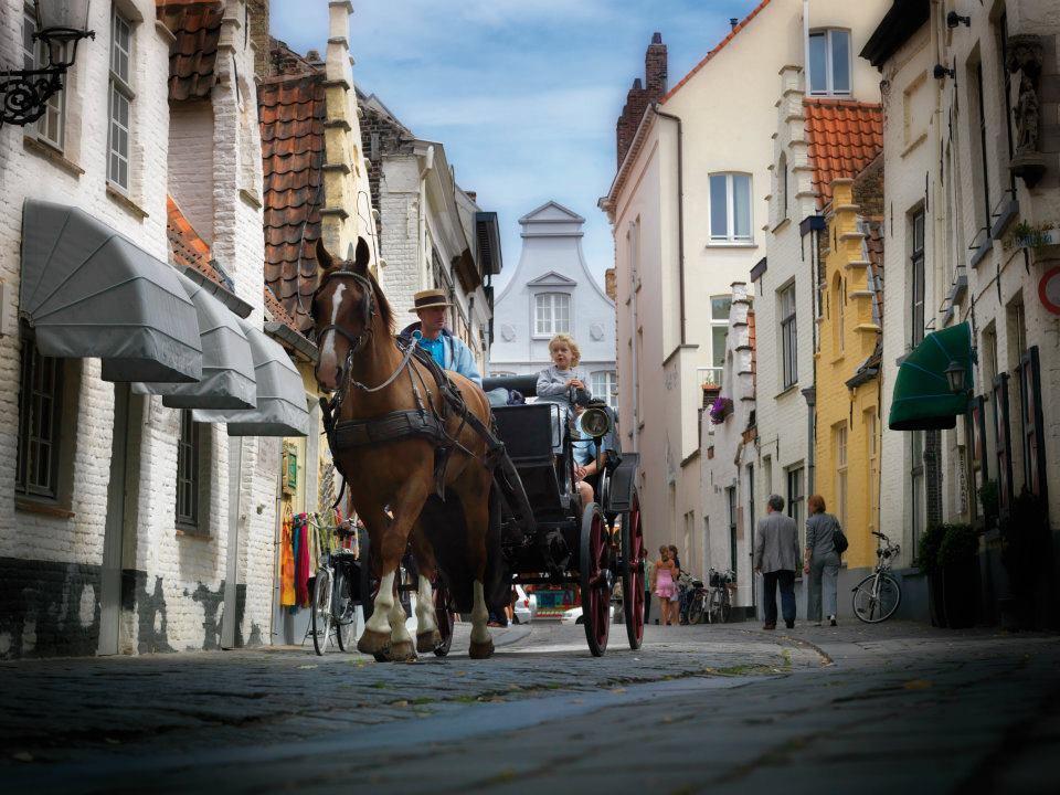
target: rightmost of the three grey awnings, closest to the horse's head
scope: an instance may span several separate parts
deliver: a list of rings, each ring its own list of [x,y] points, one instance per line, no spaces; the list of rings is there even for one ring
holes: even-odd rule
[[[254,356],[257,407],[246,411],[195,411],[195,422],[226,423],[229,436],[307,436],[309,410],[298,369],[278,342],[245,320],[240,325]]]

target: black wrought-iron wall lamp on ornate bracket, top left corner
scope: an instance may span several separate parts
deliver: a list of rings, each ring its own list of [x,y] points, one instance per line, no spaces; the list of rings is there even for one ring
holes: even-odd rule
[[[74,65],[77,42],[95,39],[88,30],[88,0],[36,0],[31,35],[23,45],[32,53],[35,42],[47,49],[47,66],[0,72],[0,125],[28,125],[47,109],[47,100],[63,89],[66,70]],[[34,59],[28,55],[30,65]]]

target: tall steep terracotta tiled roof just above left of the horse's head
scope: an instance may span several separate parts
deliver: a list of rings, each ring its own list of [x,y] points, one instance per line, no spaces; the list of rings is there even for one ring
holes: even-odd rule
[[[324,163],[324,74],[262,81],[257,89],[264,167],[265,284],[305,332],[317,287]]]

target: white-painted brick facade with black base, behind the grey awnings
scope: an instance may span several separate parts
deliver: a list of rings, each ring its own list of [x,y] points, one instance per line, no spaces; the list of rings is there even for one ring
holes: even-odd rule
[[[180,531],[180,413],[157,396],[126,400],[127,386],[100,380],[98,359],[62,360],[56,494],[15,494],[24,200],[80,208],[158,259],[169,258],[169,160],[181,157],[169,146],[170,136],[181,134],[167,98],[173,35],[156,22],[153,0],[114,8],[129,25],[132,53],[125,184],[108,180],[107,169],[110,3],[91,6],[96,39],[78,47],[64,92],[62,136],[47,142],[34,127],[0,128],[0,372],[7,384],[0,396],[7,463],[0,471],[0,657],[216,648],[268,636],[277,442],[245,439],[242,479],[232,484],[230,454],[237,442],[222,425],[201,426],[200,523],[195,532]],[[23,19],[21,0],[3,0],[3,63],[22,63],[15,49]],[[253,49],[239,32],[244,19],[242,0],[227,0],[220,80],[210,99],[213,123],[199,127],[212,149],[206,176],[215,180],[202,194],[199,218],[212,220],[203,234],[259,321],[263,239],[261,204],[253,198],[259,194],[261,149],[253,86],[246,83],[254,73]]]

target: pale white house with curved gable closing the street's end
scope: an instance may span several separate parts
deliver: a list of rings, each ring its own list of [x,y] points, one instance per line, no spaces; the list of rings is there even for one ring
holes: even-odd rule
[[[534,373],[551,362],[549,340],[571,335],[597,398],[616,404],[615,305],[582,254],[585,219],[548,202],[527,213],[522,255],[494,309],[494,375]]]

